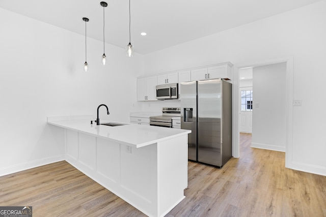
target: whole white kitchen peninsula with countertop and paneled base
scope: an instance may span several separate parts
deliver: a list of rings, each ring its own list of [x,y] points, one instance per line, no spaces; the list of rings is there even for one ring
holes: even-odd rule
[[[48,117],[64,128],[68,163],[149,216],[164,216],[184,198],[191,131],[90,120]]]

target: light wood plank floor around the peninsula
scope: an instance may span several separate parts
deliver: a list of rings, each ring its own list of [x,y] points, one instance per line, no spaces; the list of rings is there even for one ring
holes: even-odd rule
[[[189,162],[188,188],[172,216],[326,216],[326,177],[284,167],[285,153],[251,148],[222,169]],[[0,177],[0,206],[33,216],[146,216],[65,161]]]

